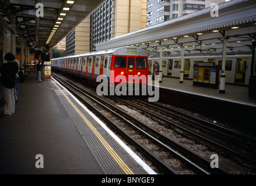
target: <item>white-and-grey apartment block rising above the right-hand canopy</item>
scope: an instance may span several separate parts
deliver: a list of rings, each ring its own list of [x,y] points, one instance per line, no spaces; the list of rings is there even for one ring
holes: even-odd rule
[[[225,0],[148,0],[146,24],[152,26],[205,9],[212,3],[221,2],[225,2]]]

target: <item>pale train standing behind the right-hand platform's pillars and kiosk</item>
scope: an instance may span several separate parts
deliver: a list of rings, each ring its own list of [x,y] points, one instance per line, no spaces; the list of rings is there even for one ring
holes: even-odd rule
[[[226,83],[249,84],[251,69],[251,53],[237,52],[227,53],[226,55]],[[193,66],[198,62],[213,62],[222,67],[222,56],[218,53],[194,53],[184,56],[184,78],[193,78]],[[149,74],[158,74],[159,56],[149,57]],[[180,77],[181,56],[170,55],[162,58],[162,73],[167,77]],[[221,74],[221,71],[219,71]]]

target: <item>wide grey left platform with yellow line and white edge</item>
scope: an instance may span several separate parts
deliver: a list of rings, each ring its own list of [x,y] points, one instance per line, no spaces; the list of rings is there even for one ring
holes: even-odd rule
[[[155,174],[53,78],[19,84],[0,141],[0,174]]]

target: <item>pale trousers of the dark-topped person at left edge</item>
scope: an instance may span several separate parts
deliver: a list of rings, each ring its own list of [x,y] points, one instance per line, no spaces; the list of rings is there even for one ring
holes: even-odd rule
[[[12,115],[12,113],[15,113],[14,88],[3,87],[3,99],[5,99],[6,101],[5,110],[3,111],[3,113],[5,113],[6,115]]]

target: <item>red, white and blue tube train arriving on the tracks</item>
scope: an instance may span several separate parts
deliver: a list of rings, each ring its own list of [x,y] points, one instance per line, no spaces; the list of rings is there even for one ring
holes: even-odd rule
[[[82,53],[51,59],[51,68],[92,81],[103,75],[110,83],[135,82],[130,77],[139,78],[140,83],[148,83],[148,52],[138,47],[120,47]]]

